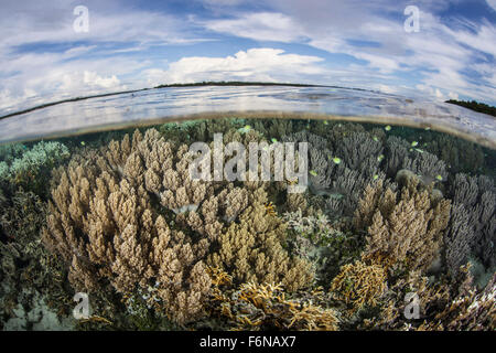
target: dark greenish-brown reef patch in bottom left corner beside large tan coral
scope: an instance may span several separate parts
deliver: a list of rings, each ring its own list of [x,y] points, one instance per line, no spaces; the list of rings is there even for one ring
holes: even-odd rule
[[[40,245],[46,204],[33,192],[0,190],[0,329],[72,330],[62,268]],[[71,298],[71,297],[66,297]],[[72,306],[72,304],[71,304]]]

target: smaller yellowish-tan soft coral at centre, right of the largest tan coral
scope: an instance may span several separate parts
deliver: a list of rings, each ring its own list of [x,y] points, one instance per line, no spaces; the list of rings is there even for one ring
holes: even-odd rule
[[[209,257],[209,264],[229,272],[236,282],[282,282],[290,290],[312,282],[311,265],[301,258],[291,258],[282,247],[285,224],[267,212],[267,193],[258,189],[250,195],[250,206],[219,238],[219,250]]]

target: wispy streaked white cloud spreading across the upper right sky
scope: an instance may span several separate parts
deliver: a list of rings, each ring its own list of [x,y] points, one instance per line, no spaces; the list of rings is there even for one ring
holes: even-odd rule
[[[395,11],[402,13],[402,2],[380,0],[366,3],[354,0],[276,0],[277,11],[234,14],[234,19],[211,21],[207,26],[222,33],[263,41],[300,43],[305,39],[314,47],[364,60],[367,64],[363,69],[353,68],[365,75],[358,77],[358,82],[365,84],[363,87],[377,87],[385,84],[385,78],[395,79],[398,73],[418,72],[416,78],[432,88],[424,92],[433,98],[451,93],[451,96],[459,94],[494,101],[494,72],[488,73],[487,68],[478,72],[483,78],[477,83],[466,72],[477,69],[474,62],[486,60],[481,53],[493,56],[493,61],[486,63],[496,67],[495,24],[487,21],[474,24],[466,20],[449,23],[446,19],[432,14],[446,9],[449,2],[418,1],[416,4],[421,9],[421,30],[418,33],[407,33],[402,18],[391,20],[385,15]],[[378,45],[357,46],[348,40]],[[348,68],[352,66],[344,67],[344,71]],[[376,76],[377,81],[371,69],[387,77]],[[335,83],[335,77],[330,78]],[[356,82],[357,77],[349,81]]]

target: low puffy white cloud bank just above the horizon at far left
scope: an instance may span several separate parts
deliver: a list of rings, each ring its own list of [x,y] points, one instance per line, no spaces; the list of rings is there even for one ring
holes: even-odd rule
[[[147,67],[149,63],[127,58],[73,60],[61,54],[29,54],[9,63],[15,75],[0,81],[0,110],[12,111],[46,101],[93,95],[147,85],[120,77]],[[57,63],[53,65],[52,63]]]

